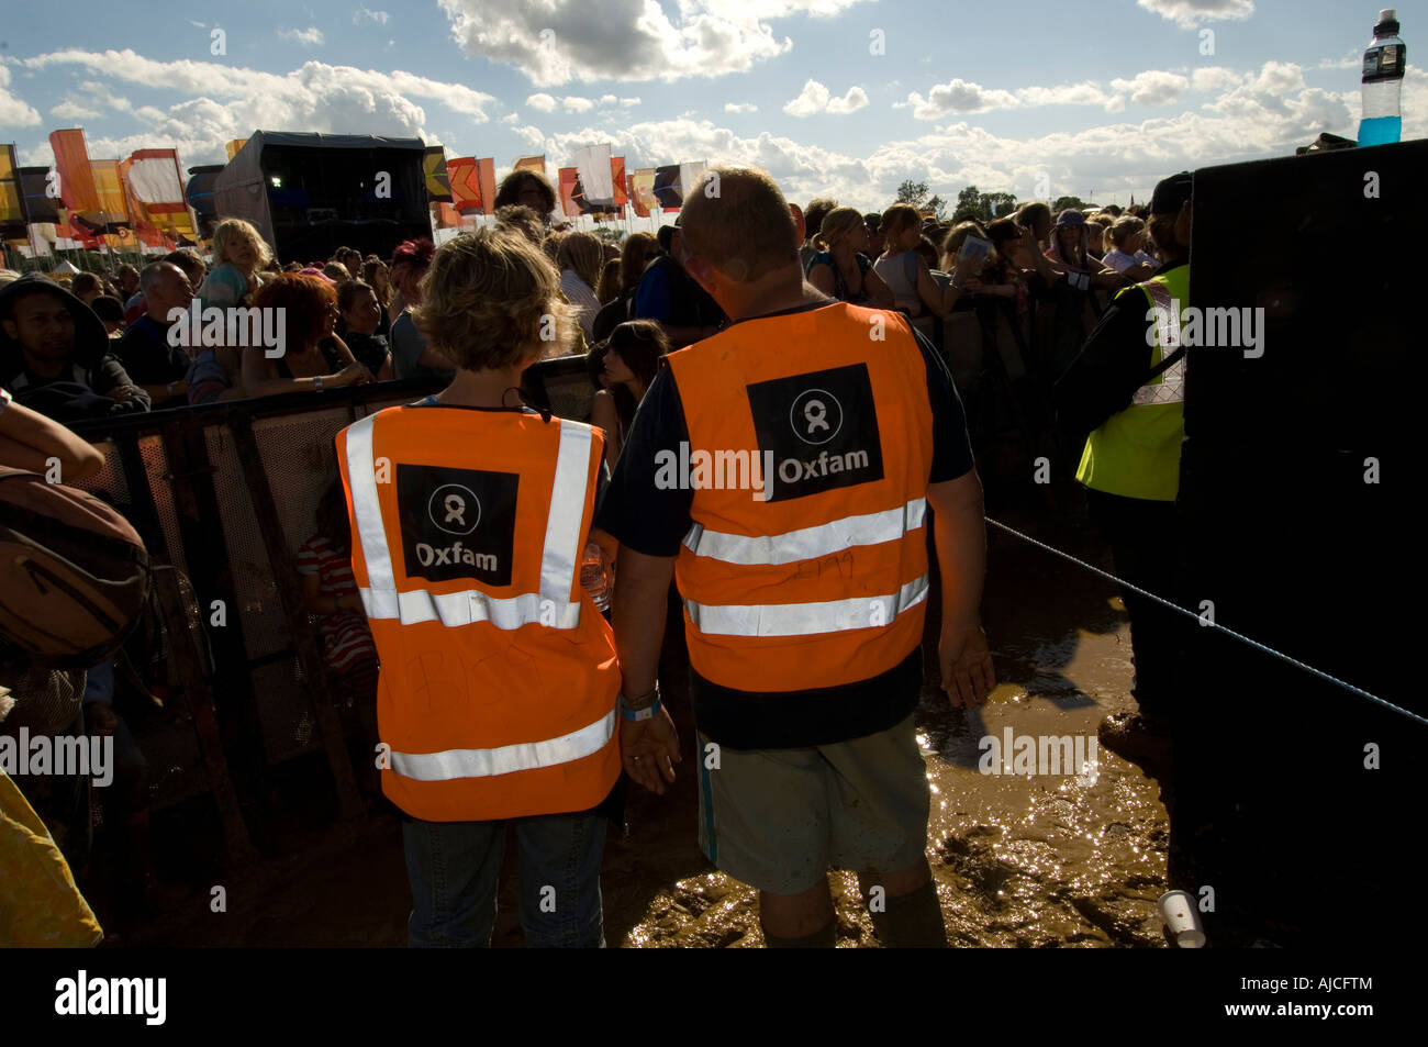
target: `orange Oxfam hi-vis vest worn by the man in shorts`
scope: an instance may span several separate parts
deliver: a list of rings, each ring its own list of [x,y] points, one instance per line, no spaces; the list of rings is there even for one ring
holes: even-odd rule
[[[744,320],[668,364],[690,430],[675,577],[694,671],[794,691],[897,667],[922,638],[932,467],[907,320],[835,303]]]

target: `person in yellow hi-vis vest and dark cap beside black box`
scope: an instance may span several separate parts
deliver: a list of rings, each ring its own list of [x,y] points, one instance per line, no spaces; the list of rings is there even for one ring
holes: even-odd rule
[[[1175,600],[1175,494],[1185,436],[1185,359],[1177,350],[1181,310],[1190,304],[1190,173],[1155,186],[1150,210],[1161,267],[1115,296],[1058,393],[1064,401],[1074,396],[1088,401],[1091,394],[1077,390],[1135,390],[1130,404],[1110,417],[1088,416],[1085,424],[1097,424],[1087,437],[1077,480],[1087,487],[1091,514],[1111,546],[1117,573]],[[1165,363],[1170,366],[1162,367]],[[1121,597],[1131,618],[1131,693],[1140,711],[1108,717],[1101,724],[1101,741],[1165,778],[1172,758],[1175,693],[1184,671],[1184,624],[1174,611],[1131,590],[1122,590]]]

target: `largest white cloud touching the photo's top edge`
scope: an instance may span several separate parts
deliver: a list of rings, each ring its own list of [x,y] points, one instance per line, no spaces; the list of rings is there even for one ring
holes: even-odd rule
[[[747,73],[793,47],[771,21],[831,17],[864,0],[440,0],[467,54],[520,69],[538,87]]]

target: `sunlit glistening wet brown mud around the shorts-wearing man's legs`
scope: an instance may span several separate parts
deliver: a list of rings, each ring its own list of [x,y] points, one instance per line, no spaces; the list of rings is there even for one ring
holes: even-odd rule
[[[1104,590],[1078,590],[1040,607],[998,604],[990,593],[988,604],[1004,683],[978,710],[951,708],[932,690],[918,710],[932,793],[927,854],[950,941],[1162,947],[1155,900],[1165,890],[1167,821],[1154,780],[1100,747],[1094,764],[1064,774],[1012,774],[1011,753],[1008,773],[978,768],[984,736],[1002,740],[1008,727],[1015,737],[1082,736],[1090,750],[1105,716],[1134,708],[1120,601]],[[1075,624],[1057,630],[1058,620]],[[1001,636],[1011,643],[998,643]],[[877,946],[857,878],[835,873],[833,888],[838,944]],[[755,894],[715,871],[681,878],[655,891],[644,917],[617,941],[760,946]]]

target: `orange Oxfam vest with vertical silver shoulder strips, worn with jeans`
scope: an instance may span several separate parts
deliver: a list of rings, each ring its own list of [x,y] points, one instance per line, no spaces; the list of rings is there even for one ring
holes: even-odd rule
[[[580,584],[603,453],[590,426],[460,407],[337,434],[381,787],[407,814],[583,811],[614,786],[614,634]]]

